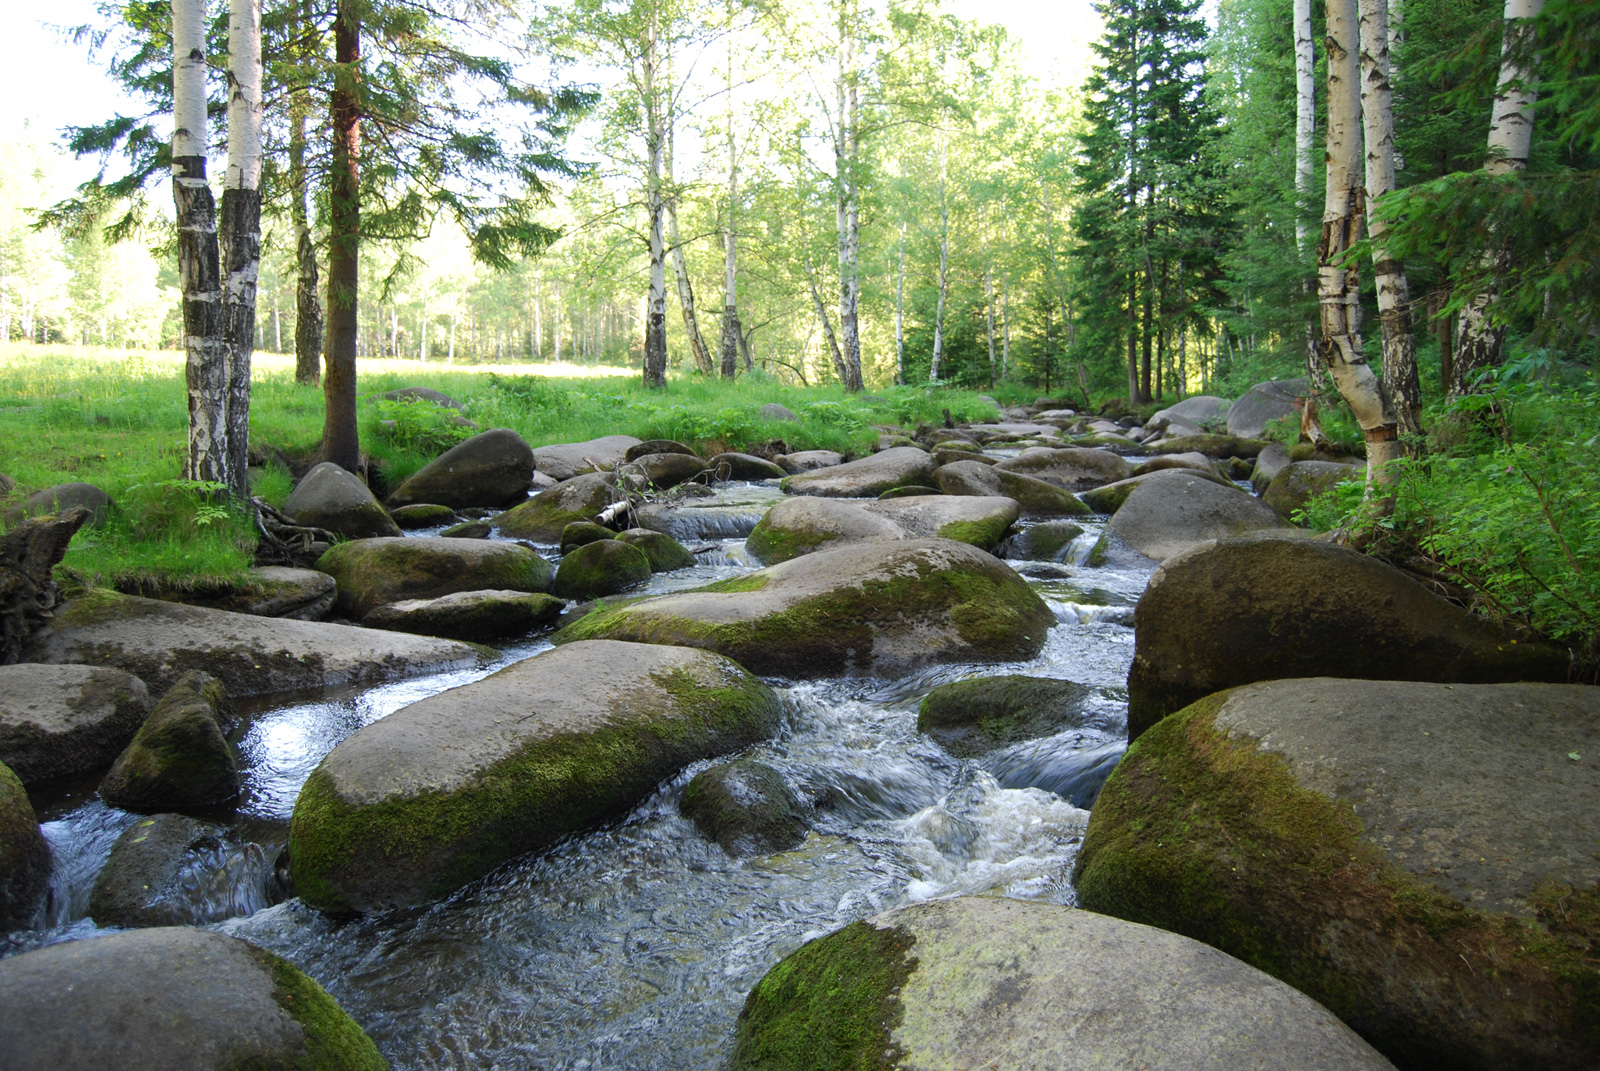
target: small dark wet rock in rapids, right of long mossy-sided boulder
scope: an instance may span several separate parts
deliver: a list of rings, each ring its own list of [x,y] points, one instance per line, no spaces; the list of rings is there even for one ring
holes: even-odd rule
[[[683,788],[683,816],[728,855],[773,855],[805,840],[800,799],[778,770],[752,759],[718,762]]]

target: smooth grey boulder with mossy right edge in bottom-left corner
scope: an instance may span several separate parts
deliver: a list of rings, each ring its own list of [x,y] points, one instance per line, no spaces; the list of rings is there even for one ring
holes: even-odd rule
[[[362,1028],[286,959],[190,927],[64,941],[0,961],[0,1007],[8,1071],[389,1068]]]

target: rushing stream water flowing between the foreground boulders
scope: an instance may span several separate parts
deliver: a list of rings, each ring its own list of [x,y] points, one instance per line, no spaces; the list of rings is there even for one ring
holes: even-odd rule
[[[754,568],[741,540],[726,536],[747,531],[774,495],[734,485],[691,499],[699,517],[670,523],[686,543],[707,544],[699,564],[653,578],[646,592]],[[1075,802],[1093,799],[1125,748],[1131,608],[1150,570],[1142,559],[1083,565],[1096,535],[1059,562],[1011,562],[1058,620],[1030,661],[770,682],[782,728],[746,754],[778,768],[813,808],[811,832],[792,852],[734,860],[701,837],[678,815],[683,786],[707,765],[698,764],[622,821],[418,911],[333,921],[298,900],[266,906],[294,797],[336,743],[549,647],[536,639],[494,666],[246,712],[235,730],[245,796],[174,909],[294,961],[395,1068],[718,1066],[746,993],[813,937],[934,897],[1074,903],[1070,871],[1088,821]],[[1083,725],[976,760],[917,732],[930,688],[1005,672],[1090,685]],[[56,858],[50,905],[37,929],[0,938],[0,954],[101,932],[85,917],[90,888],[136,821],[101,804],[91,783],[40,810]]]

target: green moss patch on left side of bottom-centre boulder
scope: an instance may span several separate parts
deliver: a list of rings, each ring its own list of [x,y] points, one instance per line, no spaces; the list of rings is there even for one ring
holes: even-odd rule
[[[734,1071],[888,1071],[915,938],[851,922],[786,956],[739,1012]]]

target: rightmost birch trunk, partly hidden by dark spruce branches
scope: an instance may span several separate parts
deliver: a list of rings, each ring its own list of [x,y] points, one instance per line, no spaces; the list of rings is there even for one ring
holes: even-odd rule
[[[1528,170],[1528,150],[1533,146],[1534,93],[1528,88],[1533,70],[1517,64],[1515,45],[1533,32],[1533,19],[1544,10],[1544,0],[1506,0],[1506,34],[1501,42],[1499,85],[1494,91],[1494,114],[1490,123],[1488,157],[1483,170],[1488,174],[1512,174]],[[1496,250],[1485,258],[1488,277],[1499,279],[1509,267],[1507,251]],[[1461,309],[1461,333],[1456,341],[1456,362],[1450,383],[1450,397],[1472,391],[1483,368],[1501,362],[1506,344],[1506,328],[1490,319],[1498,287],[1490,285],[1474,295]]]

